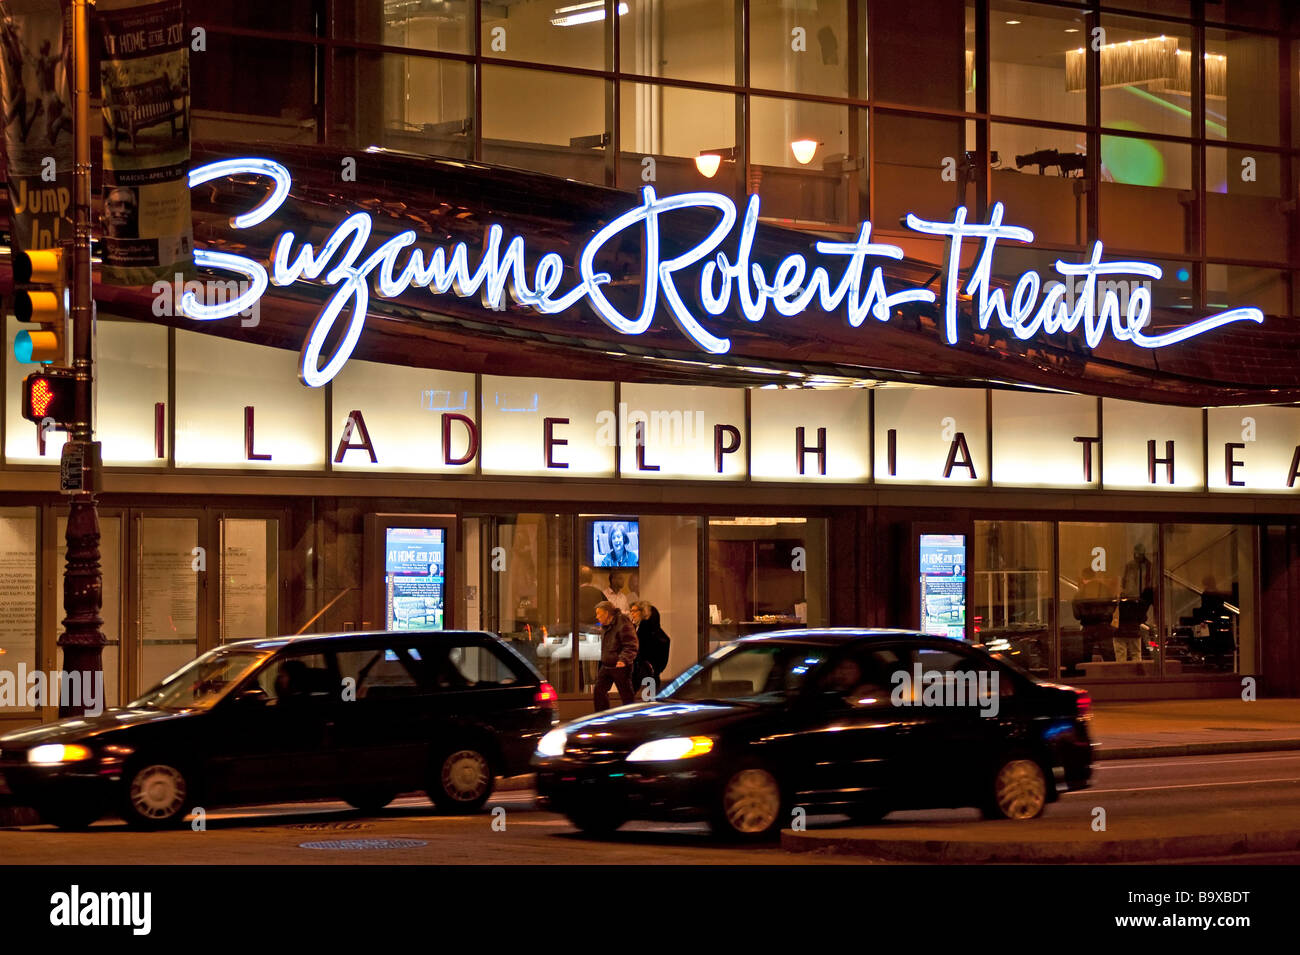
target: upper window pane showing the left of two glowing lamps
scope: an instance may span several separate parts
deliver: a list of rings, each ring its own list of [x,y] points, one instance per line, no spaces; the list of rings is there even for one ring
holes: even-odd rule
[[[736,100],[703,90],[623,83],[621,186],[649,182],[659,195],[697,190],[734,195],[742,174],[733,153]],[[701,155],[706,157],[697,162]],[[653,179],[646,178],[650,174]]]

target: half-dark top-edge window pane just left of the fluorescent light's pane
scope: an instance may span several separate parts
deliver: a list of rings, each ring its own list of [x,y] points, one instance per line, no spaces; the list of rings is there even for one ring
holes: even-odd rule
[[[471,16],[468,0],[335,0],[332,12],[337,39],[452,53],[469,52]]]

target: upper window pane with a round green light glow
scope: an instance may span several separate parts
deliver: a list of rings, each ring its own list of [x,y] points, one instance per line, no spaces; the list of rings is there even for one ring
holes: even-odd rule
[[[1117,248],[1192,252],[1192,148],[1132,136],[1101,138],[1101,235]]]

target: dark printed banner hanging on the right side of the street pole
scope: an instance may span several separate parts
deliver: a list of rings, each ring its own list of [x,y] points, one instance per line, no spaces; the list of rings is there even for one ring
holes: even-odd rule
[[[151,285],[194,270],[190,49],[183,0],[99,0],[104,270]]]

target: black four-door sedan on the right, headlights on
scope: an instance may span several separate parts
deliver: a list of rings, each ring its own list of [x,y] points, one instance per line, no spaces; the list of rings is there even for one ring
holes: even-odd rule
[[[1032,819],[1092,772],[1089,699],[957,639],[898,630],[750,637],[538,746],[543,806],[603,833],[708,820],[763,838],[796,807],[878,820],[976,806]]]

